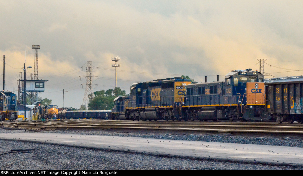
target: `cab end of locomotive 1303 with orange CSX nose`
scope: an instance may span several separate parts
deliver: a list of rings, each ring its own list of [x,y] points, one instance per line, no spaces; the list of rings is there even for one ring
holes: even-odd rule
[[[225,76],[225,91],[226,95],[232,94],[237,97],[238,116],[234,119],[241,121],[268,119],[264,110],[265,86],[260,72],[246,69],[228,73]]]

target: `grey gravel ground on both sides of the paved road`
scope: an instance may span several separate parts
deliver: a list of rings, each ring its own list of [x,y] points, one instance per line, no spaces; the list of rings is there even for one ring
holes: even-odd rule
[[[25,133],[28,130],[0,128],[0,133]],[[107,131],[47,131],[42,133],[68,133],[175,139],[207,142],[279,145],[303,147],[301,140],[270,137],[244,137],[221,135],[143,134]],[[303,170],[300,167],[243,164],[215,160],[168,158],[125,152],[111,152],[87,148],[33,142],[0,140],[1,170]],[[3,147],[5,146],[5,147]],[[11,149],[35,149],[29,152],[10,152]]]

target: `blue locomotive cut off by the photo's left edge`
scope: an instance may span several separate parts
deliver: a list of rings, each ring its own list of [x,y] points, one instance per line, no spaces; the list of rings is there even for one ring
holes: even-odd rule
[[[16,120],[18,118],[16,94],[0,92],[0,120]]]

